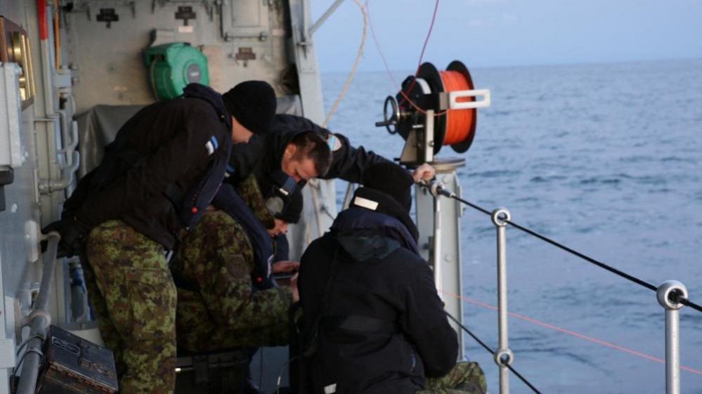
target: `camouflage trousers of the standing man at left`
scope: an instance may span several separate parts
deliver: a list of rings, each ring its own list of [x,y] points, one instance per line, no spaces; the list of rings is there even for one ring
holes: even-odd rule
[[[108,221],[90,232],[82,262],[105,346],[115,352],[119,393],[173,393],[176,287],[163,247]]]

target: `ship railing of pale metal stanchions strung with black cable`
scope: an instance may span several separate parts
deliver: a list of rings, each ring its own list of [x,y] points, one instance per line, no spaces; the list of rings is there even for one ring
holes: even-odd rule
[[[541,235],[534,230],[526,228],[512,221],[512,216],[509,211],[505,208],[494,209],[493,211],[488,211],[483,207],[462,199],[455,195],[455,193],[450,192],[441,185],[441,183],[434,181],[431,183],[420,183],[420,186],[427,188],[431,195],[435,198],[440,198],[440,196],[455,199],[466,206],[469,206],[476,211],[480,211],[483,214],[490,216],[490,219],[495,225],[495,230],[497,233],[497,264],[498,264],[498,349],[492,350],[488,346],[480,341],[472,332],[467,329],[463,324],[461,324],[455,317],[448,315],[448,317],[456,322],[464,331],[466,331],[470,336],[473,337],[478,343],[486,348],[488,352],[494,355],[495,364],[498,365],[500,369],[500,394],[509,394],[509,372],[512,371],[521,381],[523,381],[529,388],[531,388],[535,393],[539,391],[529,383],[524,376],[516,372],[512,367],[512,362],[514,361],[514,353],[509,349],[509,334],[507,326],[507,316],[509,310],[507,307],[507,227],[511,226],[522,232],[526,232],[537,239],[552,244],[554,247],[567,251],[578,258],[581,258],[588,263],[597,265],[599,268],[612,272],[620,277],[629,280],[639,286],[645,287],[646,289],[653,290],[656,292],[656,298],[658,303],[665,310],[665,393],[666,394],[680,394],[680,308],[683,306],[689,306],[694,310],[702,312],[702,306],[697,303],[693,303],[688,298],[687,287],[677,280],[666,280],[665,282],[655,286],[649,282],[645,282],[633,275],[628,274],[612,267],[602,261],[597,261],[596,259],[580,253],[564,244],[554,241],[545,235]]]

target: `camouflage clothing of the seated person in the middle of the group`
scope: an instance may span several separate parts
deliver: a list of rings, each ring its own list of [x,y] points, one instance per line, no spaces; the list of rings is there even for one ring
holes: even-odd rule
[[[287,344],[292,291],[254,291],[254,252],[244,230],[208,211],[178,247],[178,346],[190,351]]]

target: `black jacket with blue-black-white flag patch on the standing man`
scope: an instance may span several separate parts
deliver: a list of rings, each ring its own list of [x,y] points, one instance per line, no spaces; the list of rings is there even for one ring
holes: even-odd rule
[[[120,219],[171,249],[183,226],[167,190],[193,190],[230,151],[230,115],[221,96],[211,89],[200,95],[154,103],[131,117],[105,153],[128,147],[131,157],[119,155],[108,169],[98,166],[84,176],[65,211],[87,228]],[[214,175],[223,178],[223,169]]]

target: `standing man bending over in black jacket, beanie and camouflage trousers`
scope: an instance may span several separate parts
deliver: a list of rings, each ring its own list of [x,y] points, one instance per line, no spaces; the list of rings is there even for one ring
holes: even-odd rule
[[[81,258],[122,394],[173,393],[176,287],[164,251],[202,217],[231,145],[268,131],[275,113],[263,81],[224,95],[198,84],[183,93],[131,117],[47,229],[60,232],[67,256]]]

